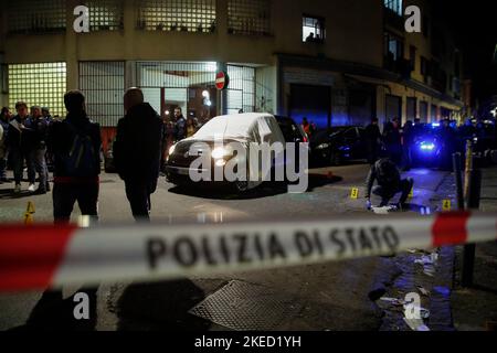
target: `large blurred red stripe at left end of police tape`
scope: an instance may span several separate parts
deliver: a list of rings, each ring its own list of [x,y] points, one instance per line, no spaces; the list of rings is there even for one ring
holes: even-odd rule
[[[76,226],[1,226],[0,290],[45,289]]]

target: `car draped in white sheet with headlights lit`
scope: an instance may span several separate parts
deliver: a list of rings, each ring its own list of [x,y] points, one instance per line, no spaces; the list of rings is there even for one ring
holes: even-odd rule
[[[254,146],[263,146],[264,142],[268,143],[268,146],[281,143],[284,148],[283,151],[278,150],[273,156],[274,158],[271,161],[272,170],[269,171],[272,172],[278,167],[277,164],[281,161],[283,161],[283,164],[286,163],[286,141],[273,115],[250,113],[215,117],[205,124],[193,137],[178,142],[170,149],[166,163],[167,179],[173,184],[188,184],[198,182],[192,180],[192,172],[204,172],[211,175],[207,182],[229,183],[235,186],[235,190],[239,192],[257,188],[265,181],[265,175],[262,175],[264,169],[262,169],[260,160],[250,158],[250,149]],[[239,156],[231,148],[232,146],[242,148],[245,153]],[[204,161],[209,160],[209,165],[204,163],[200,169],[192,167],[199,158],[204,158]],[[214,169],[224,168],[234,159],[236,159],[237,163],[246,165],[246,178],[237,180],[223,178],[222,181],[216,180],[213,174]]]

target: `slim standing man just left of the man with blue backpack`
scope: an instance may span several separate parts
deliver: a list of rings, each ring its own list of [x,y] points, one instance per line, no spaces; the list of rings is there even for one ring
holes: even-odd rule
[[[50,191],[49,169],[46,168],[46,140],[49,133],[49,124],[42,116],[41,107],[31,107],[30,127],[33,130],[32,148],[29,152],[29,165],[31,174],[38,173],[40,185],[36,190],[38,194],[46,194]],[[34,192],[34,190],[30,190]]]

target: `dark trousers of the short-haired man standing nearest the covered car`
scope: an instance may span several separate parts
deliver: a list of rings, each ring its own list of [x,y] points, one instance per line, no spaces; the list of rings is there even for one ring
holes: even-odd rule
[[[150,195],[157,190],[157,179],[152,181],[126,180],[126,196],[136,221],[150,221]]]

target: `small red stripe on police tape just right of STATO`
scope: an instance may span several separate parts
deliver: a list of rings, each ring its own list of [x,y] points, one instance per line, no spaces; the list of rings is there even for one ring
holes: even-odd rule
[[[433,247],[465,244],[468,238],[469,212],[442,213],[432,228]]]

